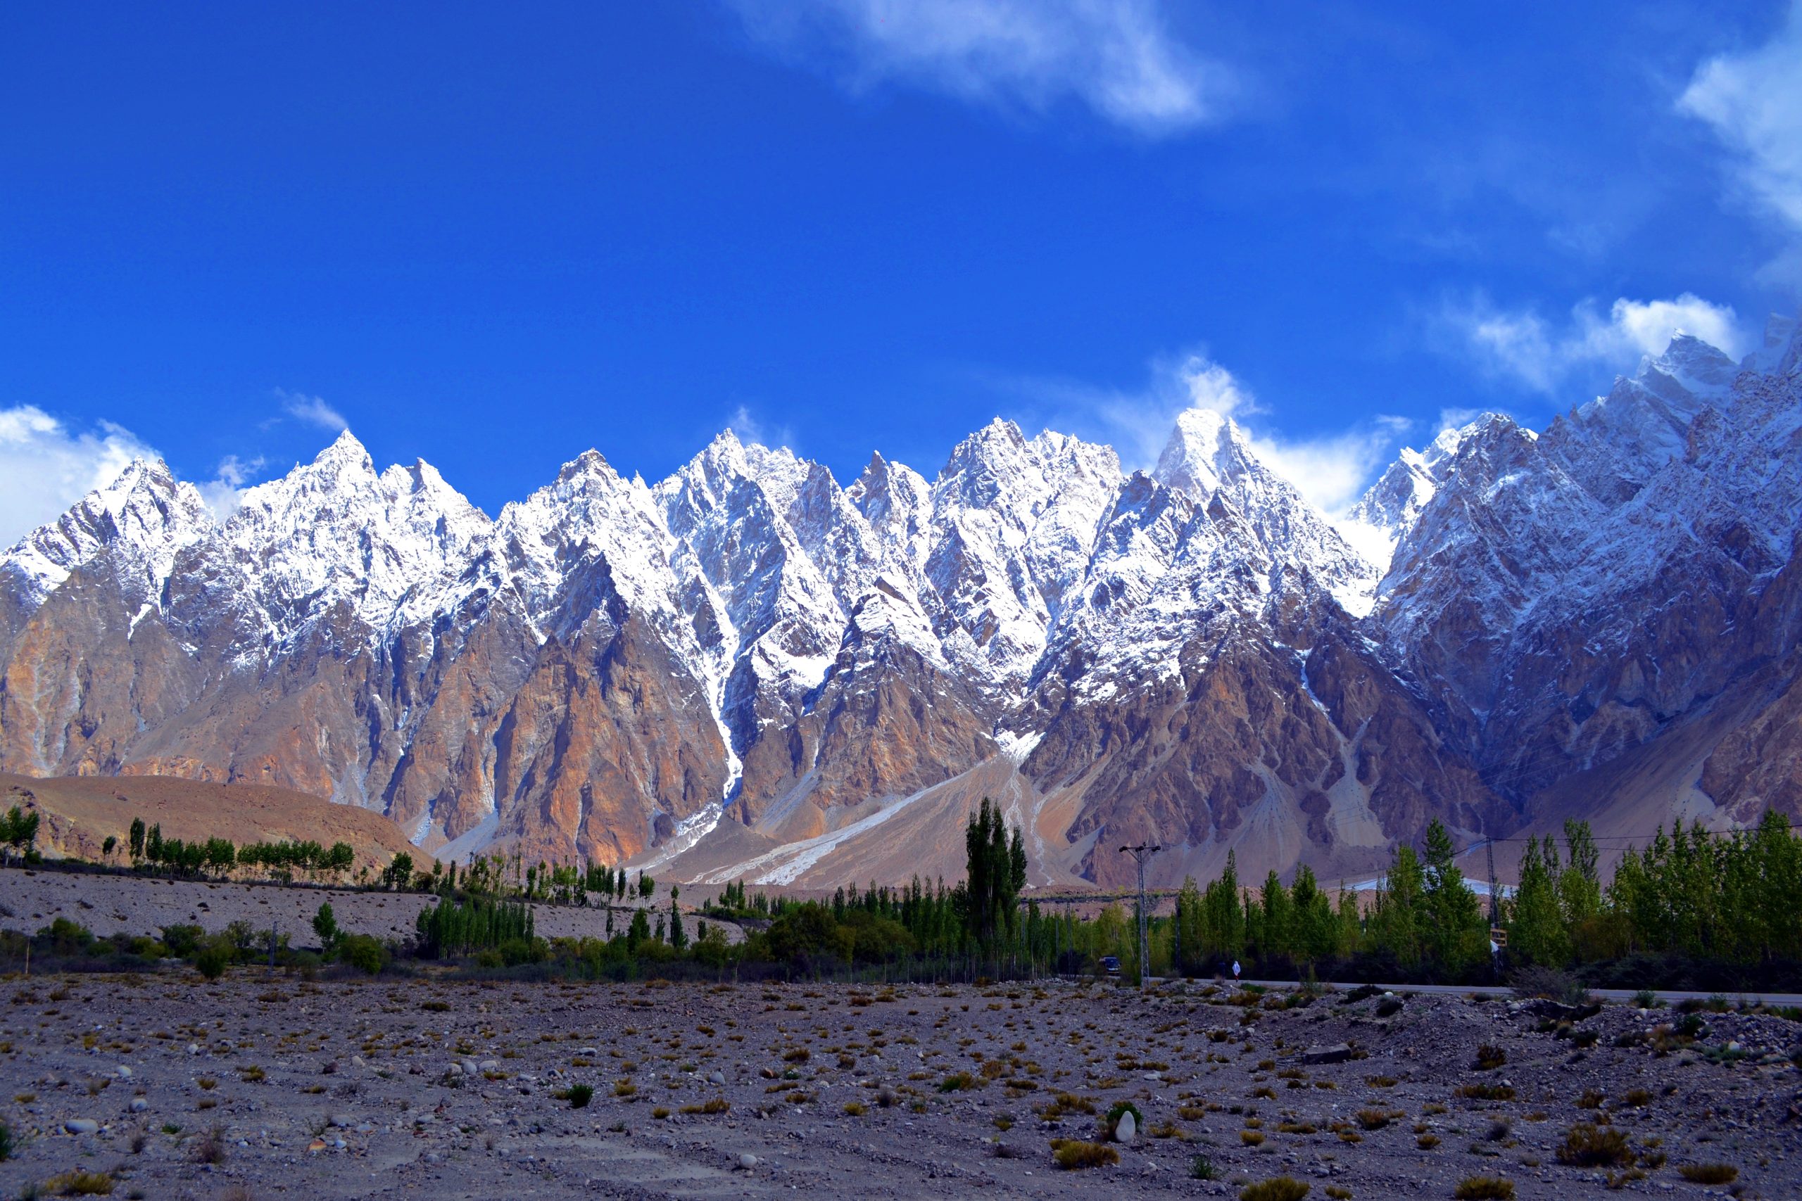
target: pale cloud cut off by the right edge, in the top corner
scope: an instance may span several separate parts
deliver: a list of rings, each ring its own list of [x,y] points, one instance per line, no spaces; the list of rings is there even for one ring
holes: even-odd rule
[[[1734,151],[1752,198],[1802,230],[1802,0],[1762,47],[1703,63],[1678,108]]]

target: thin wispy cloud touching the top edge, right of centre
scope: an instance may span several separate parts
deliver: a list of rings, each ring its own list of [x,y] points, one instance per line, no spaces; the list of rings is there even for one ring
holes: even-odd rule
[[[1004,110],[1076,99],[1142,135],[1222,115],[1233,74],[1159,0],[724,0],[751,36],[851,90],[906,83]]]

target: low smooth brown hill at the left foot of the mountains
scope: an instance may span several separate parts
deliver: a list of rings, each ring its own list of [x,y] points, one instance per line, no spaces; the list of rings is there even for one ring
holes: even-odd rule
[[[245,843],[287,839],[330,846],[350,843],[357,868],[386,868],[396,852],[431,859],[407,843],[393,821],[368,808],[333,805],[308,792],[250,783],[200,783],[169,776],[56,776],[40,780],[0,772],[0,805],[36,808],[38,848],[47,855],[99,859],[108,834],[121,848],[133,817],[162,825],[162,837],[225,837]],[[115,855],[121,855],[115,852]]]

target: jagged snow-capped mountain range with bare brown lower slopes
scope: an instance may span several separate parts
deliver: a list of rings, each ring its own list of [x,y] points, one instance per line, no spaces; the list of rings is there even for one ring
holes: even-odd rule
[[[728,430],[494,519],[350,434],[223,522],[135,463],[0,558],[0,769],[795,882],[955,875],[984,792],[1043,882],[1103,884],[1141,839],[1159,879],[1352,873],[1433,817],[1802,816],[1798,360],[1789,322],[1741,364],[1678,339],[1342,524],[1206,411],[1151,474],[995,421],[840,488]]]

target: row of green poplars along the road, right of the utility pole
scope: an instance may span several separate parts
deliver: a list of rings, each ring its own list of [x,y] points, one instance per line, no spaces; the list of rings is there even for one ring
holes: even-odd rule
[[[1559,839],[1528,839],[1519,884],[1494,909],[1510,965],[1570,967],[1627,956],[1687,956],[1717,963],[1802,960],[1802,841],[1768,812],[1752,830],[1710,834],[1699,823],[1660,828],[1627,850],[1604,884],[1586,821]],[[1490,956],[1490,906],[1456,864],[1451,834],[1427,826],[1422,848],[1398,846],[1366,904],[1337,902],[1306,866],[1285,888],[1272,871],[1256,891],[1234,857],[1220,879],[1188,880],[1168,920],[1180,971],[1222,962],[1319,965],[1371,956],[1445,978]]]

